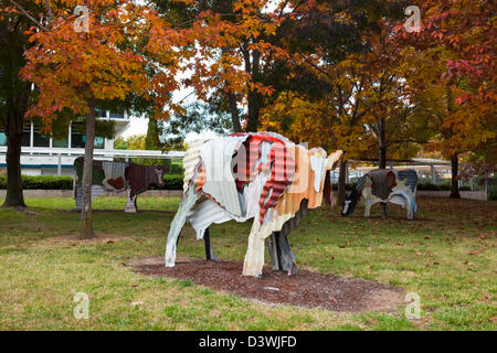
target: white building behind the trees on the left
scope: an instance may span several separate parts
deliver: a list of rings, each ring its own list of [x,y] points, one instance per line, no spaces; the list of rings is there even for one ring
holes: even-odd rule
[[[116,114],[99,111],[98,119],[116,122],[116,136],[120,136],[128,127],[130,117],[125,111]],[[83,122],[72,122],[67,136],[62,139],[46,138],[39,132],[32,121],[24,126],[21,149],[21,173],[25,175],[73,175],[74,160],[84,154],[85,135]],[[113,160],[102,152],[114,150],[114,140],[95,138],[95,158]],[[7,137],[0,131],[0,169],[7,168]]]

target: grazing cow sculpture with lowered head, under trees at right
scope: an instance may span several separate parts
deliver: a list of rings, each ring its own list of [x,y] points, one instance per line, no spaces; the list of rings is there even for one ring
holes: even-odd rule
[[[347,216],[356,210],[361,196],[364,197],[364,217],[369,217],[371,206],[381,203],[388,215],[387,203],[391,202],[408,210],[408,220],[414,217],[416,205],[417,173],[415,170],[392,171],[374,169],[361,176],[343,201],[341,214]]]

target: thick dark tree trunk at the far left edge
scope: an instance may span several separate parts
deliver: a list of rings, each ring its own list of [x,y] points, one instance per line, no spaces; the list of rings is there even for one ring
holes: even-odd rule
[[[7,135],[7,197],[2,207],[25,207],[21,179],[23,116],[9,116]]]

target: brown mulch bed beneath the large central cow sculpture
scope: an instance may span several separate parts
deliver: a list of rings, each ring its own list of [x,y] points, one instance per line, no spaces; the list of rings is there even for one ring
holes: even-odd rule
[[[242,276],[242,263],[178,260],[165,267],[160,260],[131,261],[135,271],[168,278],[188,279],[214,290],[224,290],[243,298],[275,304],[320,308],[332,311],[395,311],[403,301],[403,291],[374,281],[318,274],[298,269],[296,276],[264,266],[262,278]]]

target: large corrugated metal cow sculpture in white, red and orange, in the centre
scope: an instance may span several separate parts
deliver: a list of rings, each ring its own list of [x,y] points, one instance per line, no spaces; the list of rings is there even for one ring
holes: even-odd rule
[[[272,132],[233,133],[190,145],[183,159],[183,199],[171,223],[165,261],[172,267],[186,222],[205,242],[205,256],[215,259],[209,226],[254,218],[243,266],[244,276],[262,276],[264,240],[271,236],[274,269],[296,274],[287,235],[308,208],[332,202],[329,172],[342,151],[327,157]]]

